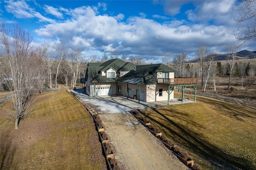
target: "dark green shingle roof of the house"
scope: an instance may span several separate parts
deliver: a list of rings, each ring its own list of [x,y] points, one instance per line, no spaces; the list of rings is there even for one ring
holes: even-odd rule
[[[107,78],[100,75],[100,71],[106,71],[110,68],[117,71],[130,71],[122,77]],[[176,72],[176,70],[167,67],[164,64],[137,65],[136,71],[132,63],[127,63],[121,59],[108,60],[105,63],[88,63],[87,74],[91,82],[122,82],[136,85],[157,84],[152,72]],[[87,75],[86,74],[86,75]]]

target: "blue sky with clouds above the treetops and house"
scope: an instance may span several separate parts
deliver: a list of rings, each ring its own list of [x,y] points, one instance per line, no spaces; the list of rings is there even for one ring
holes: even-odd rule
[[[44,41],[65,42],[80,48],[87,58],[102,56],[103,51],[118,50],[160,63],[164,53],[172,56],[184,51],[196,56],[199,45],[208,53],[225,53],[226,45],[239,43],[234,0],[39,0],[0,1],[1,22],[17,22],[34,37],[36,45]],[[238,51],[256,50],[256,42],[241,45]]]

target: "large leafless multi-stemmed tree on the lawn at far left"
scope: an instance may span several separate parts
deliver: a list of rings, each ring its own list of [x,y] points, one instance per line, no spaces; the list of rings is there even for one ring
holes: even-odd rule
[[[15,129],[18,128],[19,121],[30,113],[34,94],[36,93],[37,65],[36,55],[32,55],[32,40],[30,34],[18,24],[13,28],[6,28],[4,24],[0,26],[1,55],[7,59],[8,69],[4,77],[8,81],[8,87],[12,94],[12,103],[15,114]],[[6,70],[6,71],[7,71]]]

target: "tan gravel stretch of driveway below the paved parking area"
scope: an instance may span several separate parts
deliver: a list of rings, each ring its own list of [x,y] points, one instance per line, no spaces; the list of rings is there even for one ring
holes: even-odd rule
[[[129,113],[100,114],[116,159],[124,170],[188,170]]]

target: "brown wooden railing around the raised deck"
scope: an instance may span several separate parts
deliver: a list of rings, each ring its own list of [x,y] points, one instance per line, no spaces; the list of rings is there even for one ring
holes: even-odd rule
[[[158,78],[157,83],[168,84],[168,85],[193,85],[197,84],[198,78],[174,78],[164,79]]]

